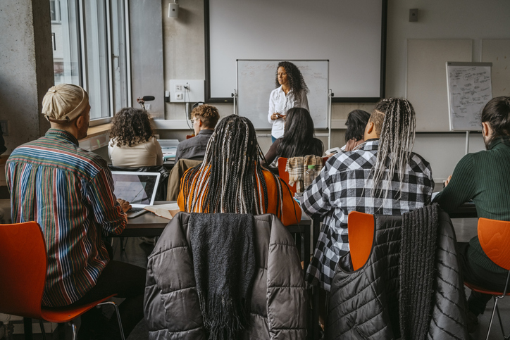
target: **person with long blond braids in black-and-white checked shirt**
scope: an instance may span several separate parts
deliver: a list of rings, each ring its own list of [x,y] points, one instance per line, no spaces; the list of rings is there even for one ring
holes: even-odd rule
[[[330,291],[340,256],[349,251],[347,216],[402,215],[430,204],[434,181],[429,163],[413,153],[416,116],[406,99],[382,99],[358,149],[332,156],[304,191],[302,208],[324,217],[306,280]]]

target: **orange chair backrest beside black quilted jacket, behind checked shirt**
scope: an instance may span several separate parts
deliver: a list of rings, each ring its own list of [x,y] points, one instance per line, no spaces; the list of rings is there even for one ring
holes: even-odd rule
[[[349,213],[347,233],[352,267],[358,270],[363,267],[372,251],[375,221],[373,215],[352,211]]]

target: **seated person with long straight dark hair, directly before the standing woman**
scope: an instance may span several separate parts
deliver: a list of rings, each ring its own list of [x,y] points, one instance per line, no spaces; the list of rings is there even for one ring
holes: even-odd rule
[[[266,153],[269,165],[277,157],[303,157],[307,155],[323,156],[324,146],[321,139],[313,137],[313,120],[306,108],[290,108],[285,114],[283,137],[276,139]]]

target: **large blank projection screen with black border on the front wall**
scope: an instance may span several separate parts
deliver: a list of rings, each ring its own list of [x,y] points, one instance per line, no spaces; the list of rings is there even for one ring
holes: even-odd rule
[[[232,100],[240,59],[329,60],[335,98],[377,101],[385,2],[205,0],[206,101]]]

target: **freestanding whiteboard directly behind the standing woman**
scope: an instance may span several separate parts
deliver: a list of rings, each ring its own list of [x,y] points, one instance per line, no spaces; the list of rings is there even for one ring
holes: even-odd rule
[[[269,94],[275,86],[280,61],[237,61],[237,113],[249,118],[256,129],[270,129]],[[299,68],[309,89],[308,105],[313,125],[328,127],[328,61],[291,61]]]

